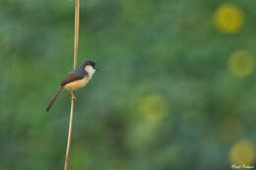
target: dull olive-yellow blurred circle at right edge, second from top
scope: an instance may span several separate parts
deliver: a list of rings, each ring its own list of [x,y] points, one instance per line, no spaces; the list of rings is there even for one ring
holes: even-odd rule
[[[228,70],[234,76],[245,78],[254,69],[254,57],[247,50],[235,51],[228,59]]]

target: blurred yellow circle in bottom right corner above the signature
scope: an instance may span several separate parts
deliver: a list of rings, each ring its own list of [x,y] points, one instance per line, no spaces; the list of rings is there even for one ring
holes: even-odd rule
[[[236,142],[229,150],[229,162],[232,165],[252,165],[255,162],[255,145],[242,140]]]

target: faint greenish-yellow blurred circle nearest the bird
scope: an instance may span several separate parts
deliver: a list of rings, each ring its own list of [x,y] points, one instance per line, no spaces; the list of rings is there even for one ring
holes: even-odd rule
[[[152,94],[141,100],[139,111],[146,119],[158,121],[167,113],[168,106],[160,95]]]

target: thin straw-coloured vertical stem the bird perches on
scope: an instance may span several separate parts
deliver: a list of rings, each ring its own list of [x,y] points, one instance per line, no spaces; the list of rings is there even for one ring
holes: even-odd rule
[[[78,39],[79,39],[79,0],[75,0],[74,70],[77,67]],[[73,127],[73,112],[74,112],[75,98],[76,97],[74,96],[74,93],[72,91],[70,119],[69,119],[69,133],[68,133],[68,142],[67,142],[64,170],[68,170],[68,164],[69,164],[69,151],[70,151],[71,134],[72,134],[72,127]]]

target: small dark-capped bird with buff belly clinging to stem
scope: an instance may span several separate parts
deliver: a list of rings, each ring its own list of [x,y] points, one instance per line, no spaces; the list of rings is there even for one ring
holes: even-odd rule
[[[59,90],[50,100],[46,111],[48,112],[55,102],[58,95],[63,91],[64,88],[68,89],[72,95],[72,100],[76,100],[74,90],[77,90],[87,85],[93,78],[96,69],[96,63],[93,60],[85,59],[84,62],[74,71],[70,72],[61,82]]]

